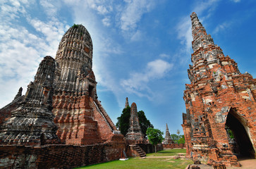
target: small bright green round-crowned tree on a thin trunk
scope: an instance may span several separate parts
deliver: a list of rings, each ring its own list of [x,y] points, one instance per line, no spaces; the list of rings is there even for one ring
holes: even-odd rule
[[[149,127],[147,128],[146,134],[150,143],[154,145],[154,152],[157,153],[157,144],[161,143],[161,141],[164,139],[162,136],[164,132],[161,132],[158,129]]]

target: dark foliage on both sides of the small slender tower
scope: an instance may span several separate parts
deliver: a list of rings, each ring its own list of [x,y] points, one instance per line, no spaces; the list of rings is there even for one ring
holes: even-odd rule
[[[144,113],[144,111],[138,111],[138,118],[140,127],[142,130],[142,134],[146,135],[147,128],[151,127],[154,128],[154,126],[150,123],[150,120],[147,120],[147,117]],[[126,136],[126,133],[128,132],[130,125],[130,106],[127,108],[123,108],[123,112],[121,113],[121,116],[117,118],[116,127],[118,127],[118,130],[121,131],[121,133]]]

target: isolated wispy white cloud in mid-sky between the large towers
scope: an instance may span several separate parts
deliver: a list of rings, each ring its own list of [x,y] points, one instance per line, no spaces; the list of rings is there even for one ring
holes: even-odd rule
[[[173,68],[172,63],[157,59],[147,63],[144,71],[140,73],[131,73],[128,80],[121,80],[121,86],[127,92],[137,94],[138,96],[147,96],[150,99],[152,91],[148,87],[150,81],[161,79]],[[152,99],[152,98],[151,98]]]

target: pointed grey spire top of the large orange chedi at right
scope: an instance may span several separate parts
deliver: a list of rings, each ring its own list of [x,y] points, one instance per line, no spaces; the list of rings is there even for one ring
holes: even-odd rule
[[[193,51],[197,51],[200,47],[207,48],[211,44],[214,45],[211,35],[207,35],[205,27],[202,26],[202,23],[197,18],[197,14],[193,12],[190,18],[192,22]]]

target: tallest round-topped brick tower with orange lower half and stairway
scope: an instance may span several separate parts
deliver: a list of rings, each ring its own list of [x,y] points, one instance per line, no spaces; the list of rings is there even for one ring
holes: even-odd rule
[[[92,39],[83,25],[63,35],[56,53],[54,122],[63,144],[97,144],[109,140],[116,126],[97,100],[92,71]]]

